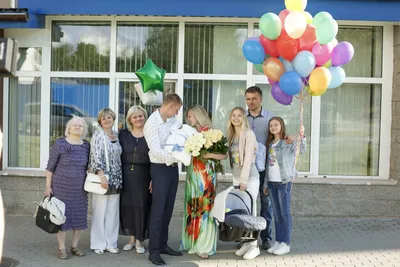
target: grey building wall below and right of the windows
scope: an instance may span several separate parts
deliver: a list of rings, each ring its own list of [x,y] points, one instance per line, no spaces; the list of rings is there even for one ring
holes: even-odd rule
[[[292,212],[296,216],[360,216],[400,217],[400,26],[394,28],[394,73],[392,95],[392,141],[390,181],[365,185],[347,181],[320,179],[315,183],[299,179],[293,186]],[[227,188],[228,182],[220,182],[218,191]],[[6,212],[9,214],[34,213],[43,197],[44,177],[0,177]],[[179,185],[175,216],[183,210],[184,182]]]

